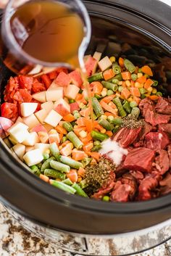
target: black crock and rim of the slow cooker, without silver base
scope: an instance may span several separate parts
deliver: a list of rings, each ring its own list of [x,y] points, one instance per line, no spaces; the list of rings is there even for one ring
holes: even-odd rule
[[[103,48],[104,55],[128,56],[138,65],[170,58],[171,8],[166,4],[157,0],[90,0],[83,3],[93,25],[88,54],[98,45],[99,49]],[[124,52],[120,44],[125,44]],[[128,45],[132,45],[132,49]],[[9,75],[9,70],[1,63],[1,99]],[[171,83],[170,78],[168,81]],[[169,83],[162,80],[160,83],[163,83],[164,93],[170,94]],[[78,234],[120,234],[154,226],[171,217],[171,194],[147,202],[107,203],[55,189],[29,173],[2,141],[0,195],[4,205],[25,218]]]

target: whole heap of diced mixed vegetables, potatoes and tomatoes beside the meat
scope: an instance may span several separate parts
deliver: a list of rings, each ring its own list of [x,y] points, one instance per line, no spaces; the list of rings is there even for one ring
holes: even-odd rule
[[[148,65],[101,59],[100,52],[86,56],[85,64],[91,101],[79,70],[20,75],[4,90],[0,123],[5,143],[32,173],[70,194],[91,197],[117,168],[101,155],[103,141],[120,128],[143,127],[141,100],[156,102],[162,93]]]

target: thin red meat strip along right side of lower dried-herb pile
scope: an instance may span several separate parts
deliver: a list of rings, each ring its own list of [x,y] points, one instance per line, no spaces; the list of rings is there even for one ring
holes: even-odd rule
[[[106,194],[112,191],[115,185],[114,179],[115,179],[115,175],[113,172],[111,172],[109,176],[109,181],[107,182],[107,184],[103,186],[101,189],[99,189],[98,192],[93,194],[92,198],[101,200],[101,198],[103,198]]]

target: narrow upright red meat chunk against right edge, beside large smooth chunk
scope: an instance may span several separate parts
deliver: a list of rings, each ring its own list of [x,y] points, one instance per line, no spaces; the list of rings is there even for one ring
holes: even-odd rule
[[[155,157],[153,165],[159,171],[161,175],[167,172],[170,168],[170,160],[166,150],[159,150],[158,155]]]

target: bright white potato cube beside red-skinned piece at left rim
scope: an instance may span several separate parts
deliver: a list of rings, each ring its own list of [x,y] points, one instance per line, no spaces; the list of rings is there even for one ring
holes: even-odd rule
[[[17,143],[22,143],[22,141],[25,141],[25,139],[27,139],[29,136],[28,126],[24,123],[12,125],[8,132],[9,135],[11,135],[14,140],[17,141]]]

